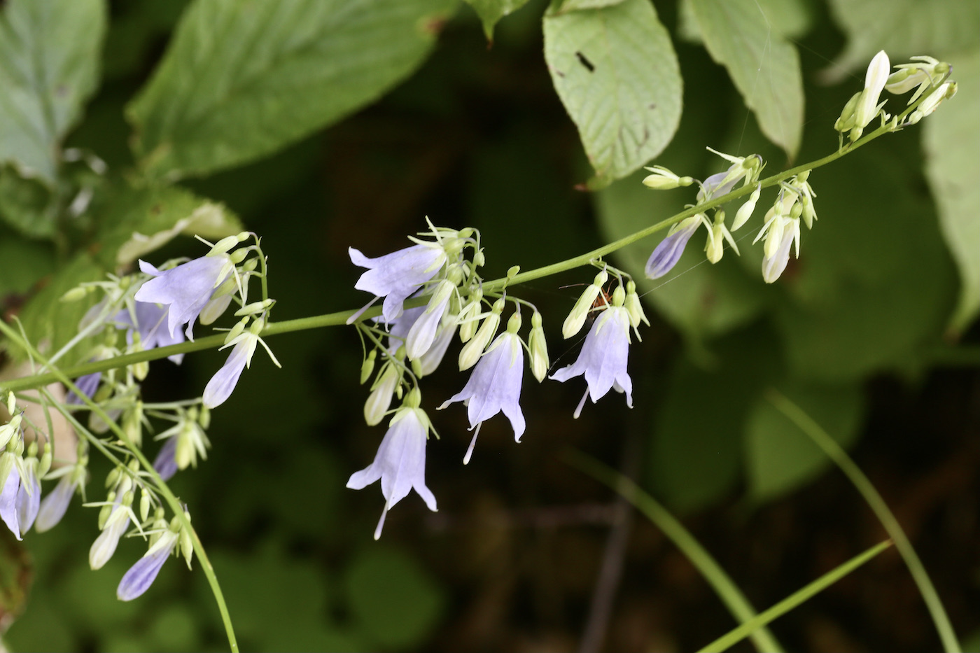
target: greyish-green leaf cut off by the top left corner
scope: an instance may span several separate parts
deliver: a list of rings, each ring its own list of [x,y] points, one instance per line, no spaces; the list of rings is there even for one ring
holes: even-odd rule
[[[0,14],[0,162],[54,183],[62,138],[98,81],[102,0],[11,0]]]

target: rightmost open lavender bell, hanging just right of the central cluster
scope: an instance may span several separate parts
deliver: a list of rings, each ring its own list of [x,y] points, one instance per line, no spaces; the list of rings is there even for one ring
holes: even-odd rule
[[[629,312],[622,306],[611,306],[592,324],[578,360],[551,376],[565,381],[585,375],[588,390],[575,409],[576,418],[582,412],[586,397],[596,403],[610,389],[625,392],[626,405],[633,407],[633,382],[626,373],[628,354]]]

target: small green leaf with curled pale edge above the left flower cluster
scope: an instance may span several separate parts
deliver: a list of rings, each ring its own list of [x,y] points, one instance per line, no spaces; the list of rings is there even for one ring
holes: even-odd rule
[[[179,186],[123,188],[111,206],[99,236],[99,260],[107,270],[132,263],[179,233],[217,240],[242,230],[222,204]]]

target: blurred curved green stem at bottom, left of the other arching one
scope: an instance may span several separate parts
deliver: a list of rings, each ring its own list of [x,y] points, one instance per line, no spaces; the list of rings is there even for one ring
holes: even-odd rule
[[[603,465],[591,456],[570,450],[564,455],[564,458],[573,467],[612,487],[660,528],[663,534],[669,537],[681,553],[691,561],[701,576],[708,581],[718,598],[735,617],[735,621],[745,625],[757,618],[755,608],[749,603],[749,599],[745,597],[742,590],[731,578],[728,578],[725,571],[715,562],[705,547],[695,539],[694,535],[667,512],[654,497],[644,492],[630,478]],[[756,644],[756,648],[761,653],[779,653],[783,650],[773,634],[764,628],[764,625],[754,628],[749,636],[752,637],[753,643]]]

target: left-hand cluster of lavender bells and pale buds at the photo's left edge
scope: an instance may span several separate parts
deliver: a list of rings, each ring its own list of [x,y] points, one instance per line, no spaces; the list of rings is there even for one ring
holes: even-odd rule
[[[35,415],[31,421],[28,412],[19,410],[16,397],[8,395],[11,417],[0,426],[0,518],[18,538],[31,526],[39,531],[55,527],[74,494],[84,496],[89,448],[96,444],[116,466],[106,479],[105,500],[85,504],[100,509],[100,532],[89,551],[90,566],[103,567],[127,531],[142,535],[149,543],[147,554],[120,583],[118,594],[123,600],[146,591],[172,552],[179,549],[190,564],[192,538],[182,526],[188,524],[189,516],[184,508],[183,515],[166,519],[161,483],[178,470],[196,466],[198,458],[207,457],[210,410],[231,394],[257,345],[266,347],[260,334],[274,302],[266,296],[252,302],[248,298],[249,281],[255,277],[263,281],[265,293],[265,255],[258,238],[254,244],[240,246],[253,237],[243,232],[215,244],[206,243],[210,250],[204,256],[169,261],[159,268],[140,261],[137,273],[84,283],[63,297],[64,301],[77,301],[93,292],[101,293],[78,325],[78,334],[50,358],[48,365],[73,347],[87,347],[81,349],[82,360],[102,361],[179,345],[185,339],[194,340],[197,324],[212,324],[234,303],[239,321],[227,329],[221,347],[231,348],[231,353],[202,396],[145,403],[140,387],[149,373],[145,361],[79,377],[70,384],[72,391],[63,402],[50,393],[45,395],[45,410],[62,412],[75,432],[83,435],[74,452],[64,452],[54,451],[56,438],[35,424],[51,424],[50,419]],[[183,354],[178,351],[168,358],[179,365]],[[73,413],[79,411],[87,412],[87,427],[74,418]],[[172,424],[156,436],[164,444],[152,470],[142,469],[137,455],[143,446],[144,429],[152,427],[151,418]],[[98,435],[110,429],[112,435]],[[43,479],[58,482],[42,498]]]

